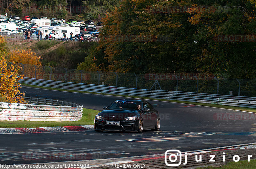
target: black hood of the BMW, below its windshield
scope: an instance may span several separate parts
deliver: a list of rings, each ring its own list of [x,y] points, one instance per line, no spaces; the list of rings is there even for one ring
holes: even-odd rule
[[[140,116],[139,110],[103,110],[98,113],[105,120],[124,120],[125,117]]]

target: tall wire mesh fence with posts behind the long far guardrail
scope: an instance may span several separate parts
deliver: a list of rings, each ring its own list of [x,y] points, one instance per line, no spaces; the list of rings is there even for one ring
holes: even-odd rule
[[[12,63],[8,63],[11,65]],[[194,75],[124,74],[18,63],[24,77],[125,88],[256,97],[256,79],[200,78]],[[239,85],[240,84],[240,85]]]

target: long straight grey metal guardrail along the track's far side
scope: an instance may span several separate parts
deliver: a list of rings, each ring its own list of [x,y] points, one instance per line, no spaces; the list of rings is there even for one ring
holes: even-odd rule
[[[23,80],[21,80],[21,83],[43,86],[43,87],[50,87],[50,88],[79,90],[79,91],[88,91],[88,92],[95,92],[95,93],[131,95],[131,96],[141,96],[141,97],[150,97],[150,98],[159,98],[159,99],[256,108],[255,97],[122,88],[122,87],[102,86],[102,85],[93,85],[93,84],[84,84],[84,83],[49,81],[49,80],[26,78],[26,77]]]

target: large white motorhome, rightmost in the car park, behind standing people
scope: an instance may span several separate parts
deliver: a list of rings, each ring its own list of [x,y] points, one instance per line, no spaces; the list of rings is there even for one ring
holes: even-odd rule
[[[52,36],[52,40],[60,39],[63,36],[63,33],[66,34],[67,37],[70,37],[70,33],[73,33],[73,37],[80,33],[79,27],[71,27],[71,26],[50,26],[49,27],[52,32],[50,33]]]

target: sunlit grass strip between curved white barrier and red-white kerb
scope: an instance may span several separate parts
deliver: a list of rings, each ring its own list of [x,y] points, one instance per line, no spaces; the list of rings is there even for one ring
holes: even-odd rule
[[[94,117],[100,111],[83,109],[83,117],[73,122],[33,122],[33,121],[0,121],[0,128],[34,128],[34,127],[60,127],[92,125]]]

